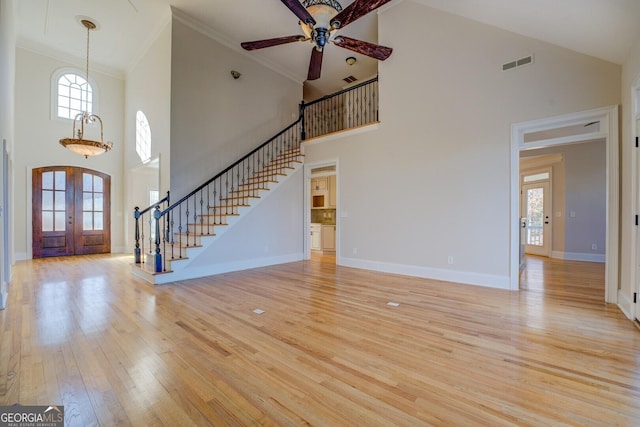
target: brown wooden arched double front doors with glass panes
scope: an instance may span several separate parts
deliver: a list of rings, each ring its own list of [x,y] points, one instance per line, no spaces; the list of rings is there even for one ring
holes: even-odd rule
[[[91,169],[33,170],[33,258],[111,252],[111,177]]]

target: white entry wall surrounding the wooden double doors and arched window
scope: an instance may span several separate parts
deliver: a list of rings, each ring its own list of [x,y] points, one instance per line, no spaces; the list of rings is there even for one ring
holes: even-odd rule
[[[85,159],[59,144],[71,136],[72,122],[52,118],[51,76],[60,68],[78,64],[42,56],[18,46],[16,50],[15,102],[15,251],[16,259],[29,259],[31,252],[31,171],[42,166],[79,166],[111,176],[111,250],[124,250],[123,141],[124,81],[99,72],[89,75],[97,84],[98,105],[94,110],[104,122],[104,138],[114,148]]]

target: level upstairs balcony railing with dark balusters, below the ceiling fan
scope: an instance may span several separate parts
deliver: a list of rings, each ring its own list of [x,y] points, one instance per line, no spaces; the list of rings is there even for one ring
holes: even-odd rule
[[[302,139],[352,129],[378,121],[378,77],[300,103]]]

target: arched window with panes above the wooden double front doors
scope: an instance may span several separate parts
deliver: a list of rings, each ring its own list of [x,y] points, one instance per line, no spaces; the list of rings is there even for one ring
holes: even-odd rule
[[[84,77],[73,71],[62,71],[55,87],[56,117],[73,120],[79,113],[93,113],[93,88]]]

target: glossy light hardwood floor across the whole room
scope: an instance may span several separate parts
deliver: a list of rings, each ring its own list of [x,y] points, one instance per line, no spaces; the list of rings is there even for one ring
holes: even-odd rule
[[[528,258],[509,292],[324,257],[154,287],[131,262],[16,265],[0,404],[70,426],[640,425],[640,331],[602,264]]]

